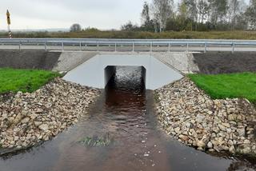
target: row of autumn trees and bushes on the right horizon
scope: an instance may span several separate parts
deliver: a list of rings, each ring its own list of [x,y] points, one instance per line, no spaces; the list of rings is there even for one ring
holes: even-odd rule
[[[162,32],[167,30],[256,30],[256,0],[174,0],[144,2],[141,26],[127,22],[129,31]]]

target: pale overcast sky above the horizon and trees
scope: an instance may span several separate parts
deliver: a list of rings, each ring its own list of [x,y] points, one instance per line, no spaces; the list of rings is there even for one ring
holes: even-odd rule
[[[140,24],[143,2],[145,0],[2,0],[0,30],[6,30],[7,9],[12,29],[69,28],[73,23],[83,28],[119,29],[128,20]]]

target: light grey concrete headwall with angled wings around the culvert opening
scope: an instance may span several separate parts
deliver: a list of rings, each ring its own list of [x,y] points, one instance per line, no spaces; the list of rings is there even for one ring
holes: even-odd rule
[[[71,70],[64,79],[104,89],[106,66],[143,66],[146,69],[146,89],[158,89],[182,78],[182,74],[150,54],[98,54]]]

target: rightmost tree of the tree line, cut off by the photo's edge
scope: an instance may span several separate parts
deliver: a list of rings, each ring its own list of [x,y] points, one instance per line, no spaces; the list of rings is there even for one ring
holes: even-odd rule
[[[246,10],[246,17],[253,30],[256,29],[256,0],[250,0],[250,6]]]

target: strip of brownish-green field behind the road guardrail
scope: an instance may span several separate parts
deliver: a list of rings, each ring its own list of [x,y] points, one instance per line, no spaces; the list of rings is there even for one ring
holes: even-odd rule
[[[70,32],[30,32],[13,33],[14,38],[186,38],[186,39],[246,39],[255,40],[256,31],[183,31],[183,32],[129,32],[129,31],[82,31]],[[8,38],[7,33],[0,33],[0,38]]]

